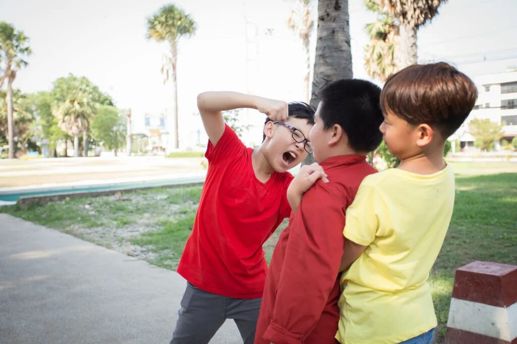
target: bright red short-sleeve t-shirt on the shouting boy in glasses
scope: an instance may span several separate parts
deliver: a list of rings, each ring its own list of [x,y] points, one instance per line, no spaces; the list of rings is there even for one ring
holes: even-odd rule
[[[208,142],[206,180],[177,270],[201,290],[236,299],[262,296],[262,245],[291,213],[286,191],[293,176],[273,172],[262,183],[252,152],[227,125],[215,146]]]

